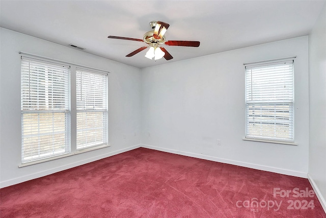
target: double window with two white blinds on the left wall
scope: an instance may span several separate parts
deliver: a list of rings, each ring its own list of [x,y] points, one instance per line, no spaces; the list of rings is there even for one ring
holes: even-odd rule
[[[108,72],[23,54],[19,167],[110,146]]]

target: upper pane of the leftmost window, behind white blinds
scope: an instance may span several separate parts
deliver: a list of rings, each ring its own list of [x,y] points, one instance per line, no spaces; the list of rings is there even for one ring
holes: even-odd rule
[[[22,60],[22,110],[67,110],[68,91],[67,68]]]

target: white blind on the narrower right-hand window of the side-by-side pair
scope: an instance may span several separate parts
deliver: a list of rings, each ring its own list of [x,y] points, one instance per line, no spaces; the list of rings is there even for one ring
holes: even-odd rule
[[[76,68],[77,150],[108,144],[107,74]]]

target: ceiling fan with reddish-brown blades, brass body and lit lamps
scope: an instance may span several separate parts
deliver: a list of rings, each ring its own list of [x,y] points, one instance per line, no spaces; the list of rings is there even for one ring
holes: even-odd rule
[[[120,36],[108,36],[107,38],[145,42],[147,45],[142,46],[139,49],[131,52],[130,54],[126,55],[126,57],[134,56],[135,54],[149,47],[149,50],[147,51],[145,57],[149,59],[154,58],[154,60],[158,60],[163,57],[166,60],[171,60],[173,58],[172,55],[165,49],[165,47],[162,47],[162,45],[188,46],[188,47],[198,47],[200,45],[199,41],[177,41],[177,40],[167,41],[165,39],[164,34],[167,32],[168,28],[170,27],[169,23],[162,22],[162,21],[151,21],[149,25],[153,30],[145,33],[143,39],[135,39],[135,38],[128,38],[128,37],[120,37]]]

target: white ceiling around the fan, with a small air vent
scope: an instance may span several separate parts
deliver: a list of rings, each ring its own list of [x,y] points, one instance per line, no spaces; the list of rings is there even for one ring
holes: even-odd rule
[[[1,1],[1,27],[143,68],[261,43],[308,35],[325,1]],[[149,60],[149,22],[170,24],[167,40],[196,40],[199,47],[165,45],[174,59]]]

